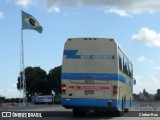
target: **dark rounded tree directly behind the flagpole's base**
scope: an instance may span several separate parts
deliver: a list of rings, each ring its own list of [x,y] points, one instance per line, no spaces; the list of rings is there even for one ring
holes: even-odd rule
[[[20,75],[22,76],[22,73]],[[50,94],[49,86],[46,80],[46,71],[40,67],[27,67],[25,69],[25,78],[27,96],[34,95],[35,93]],[[17,89],[20,90],[20,76],[18,77]]]

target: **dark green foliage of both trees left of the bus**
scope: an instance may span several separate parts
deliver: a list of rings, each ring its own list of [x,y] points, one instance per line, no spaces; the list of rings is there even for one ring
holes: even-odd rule
[[[20,73],[21,77],[18,77],[17,89],[22,89],[22,82],[20,87],[20,78],[22,78],[22,72]],[[51,94],[51,90],[54,90],[56,94],[61,92],[61,66],[51,69],[46,74],[46,71],[40,67],[27,67],[25,69],[25,78],[26,78],[26,91],[27,97],[37,94]]]

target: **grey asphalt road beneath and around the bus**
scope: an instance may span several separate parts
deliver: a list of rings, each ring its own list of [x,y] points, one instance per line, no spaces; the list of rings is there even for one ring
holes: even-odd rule
[[[26,107],[11,105],[0,106],[0,111],[0,120],[160,120],[160,102],[134,101],[133,107],[130,108],[130,112],[125,113],[122,117],[115,117],[115,115],[110,113],[107,114],[106,112],[90,112],[87,113],[86,116],[73,117],[72,110],[65,109],[61,105],[47,104],[29,104]],[[2,112],[9,112],[12,117],[2,117]],[[5,115],[6,113],[3,113],[3,116]],[[33,116],[37,117],[32,118]]]

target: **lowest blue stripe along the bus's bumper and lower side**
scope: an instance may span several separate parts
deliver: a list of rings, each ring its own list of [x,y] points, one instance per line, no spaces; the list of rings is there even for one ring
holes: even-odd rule
[[[111,102],[112,101],[112,102]],[[130,107],[130,100],[126,100],[126,108]],[[121,110],[122,100],[115,99],[89,99],[89,98],[67,98],[61,99],[61,104],[63,106],[81,106],[81,107],[115,107],[118,110]]]

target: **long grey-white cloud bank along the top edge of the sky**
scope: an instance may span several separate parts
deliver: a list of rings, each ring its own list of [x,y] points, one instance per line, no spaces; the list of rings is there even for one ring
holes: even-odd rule
[[[47,9],[62,6],[79,7],[91,6],[103,8],[107,13],[116,13],[120,16],[131,16],[133,14],[149,12],[160,12],[160,1],[158,0],[45,0]]]

